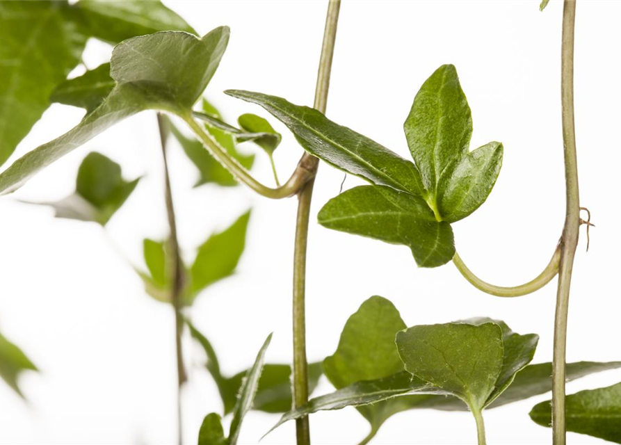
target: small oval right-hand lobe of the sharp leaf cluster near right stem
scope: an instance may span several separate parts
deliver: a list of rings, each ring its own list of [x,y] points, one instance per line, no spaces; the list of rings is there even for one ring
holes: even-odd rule
[[[438,187],[442,219],[454,223],[481,207],[492,192],[502,166],[503,146],[491,142],[463,156]]]

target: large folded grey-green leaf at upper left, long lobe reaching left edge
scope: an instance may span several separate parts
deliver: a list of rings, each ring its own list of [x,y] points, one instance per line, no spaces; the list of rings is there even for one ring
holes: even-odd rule
[[[229,29],[220,27],[202,39],[167,31],[118,44],[110,68],[117,84],[110,95],[74,129],[22,156],[2,172],[0,193],[14,191],[38,170],[139,111],[190,113],[216,71],[228,38]]]

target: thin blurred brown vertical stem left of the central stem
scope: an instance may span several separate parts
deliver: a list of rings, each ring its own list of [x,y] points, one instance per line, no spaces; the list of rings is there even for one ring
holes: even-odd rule
[[[166,126],[166,120],[164,120],[163,115],[160,113],[157,113],[157,124],[159,127],[164,164],[166,213],[168,216],[168,227],[170,230],[170,234],[168,236],[168,245],[170,246],[170,262],[172,264],[172,289],[170,290],[170,302],[172,302],[172,308],[175,311],[175,346],[177,350],[177,441],[179,445],[182,445],[182,387],[184,382],[187,380],[182,350],[183,318],[181,314],[184,267],[179,249],[179,239],[177,238],[177,220],[175,218],[175,206],[172,203],[172,190],[170,188],[170,175],[168,173],[168,156],[166,155],[166,138],[168,137],[168,128]]]

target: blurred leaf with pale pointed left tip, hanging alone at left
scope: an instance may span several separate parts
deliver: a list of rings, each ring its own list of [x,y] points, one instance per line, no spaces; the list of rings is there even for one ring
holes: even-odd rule
[[[91,152],[83,159],[76,191],[56,202],[28,202],[54,208],[57,218],[92,221],[106,225],[138,185],[140,178],[125,181],[121,167],[108,157]]]

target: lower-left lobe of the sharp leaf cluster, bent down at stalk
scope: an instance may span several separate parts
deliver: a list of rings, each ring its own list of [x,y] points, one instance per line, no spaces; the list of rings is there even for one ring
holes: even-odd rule
[[[453,229],[439,223],[418,196],[385,186],[359,186],[332,198],[318,213],[328,229],[407,245],[421,267],[442,266],[455,254]]]

